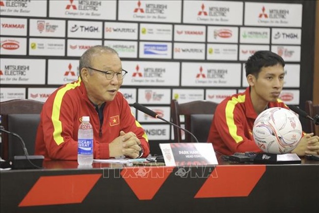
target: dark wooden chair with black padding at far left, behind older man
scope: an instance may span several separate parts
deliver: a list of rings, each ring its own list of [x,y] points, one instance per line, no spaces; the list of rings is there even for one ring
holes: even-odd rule
[[[30,155],[34,153],[35,136],[40,122],[43,102],[29,99],[14,99],[0,102],[1,125],[5,130],[20,135]],[[15,155],[24,155],[18,138],[1,133],[1,157],[12,159]]]

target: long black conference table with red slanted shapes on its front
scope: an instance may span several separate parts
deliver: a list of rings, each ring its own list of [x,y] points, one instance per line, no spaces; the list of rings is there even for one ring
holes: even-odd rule
[[[176,166],[45,161],[0,172],[1,213],[318,213],[319,161]]]

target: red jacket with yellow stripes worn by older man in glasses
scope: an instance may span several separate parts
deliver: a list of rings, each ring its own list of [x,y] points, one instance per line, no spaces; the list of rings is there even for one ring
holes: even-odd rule
[[[93,126],[94,159],[109,158],[109,143],[120,131],[136,134],[143,147],[143,156],[150,153],[148,138],[137,122],[124,96],[117,92],[114,100],[107,102],[100,125],[99,115],[87,97],[83,82],[78,81],[58,88],[43,105],[35,141],[35,154],[46,160],[77,160],[78,130],[82,116],[89,116]]]

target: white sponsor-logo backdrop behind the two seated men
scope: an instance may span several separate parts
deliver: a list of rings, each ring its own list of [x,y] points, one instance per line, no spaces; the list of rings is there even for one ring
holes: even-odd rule
[[[301,0],[0,0],[0,101],[45,101],[77,79],[85,50],[107,45],[129,71],[120,90],[128,102],[145,104],[167,120],[172,98],[220,102],[243,91],[244,62],[258,50],[287,61],[281,98],[303,107],[312,99],[314,5]],[[169,125],[133,113],[152,141],[173,139]]]

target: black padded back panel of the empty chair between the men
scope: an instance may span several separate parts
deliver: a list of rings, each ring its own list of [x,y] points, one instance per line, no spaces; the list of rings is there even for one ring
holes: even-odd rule
[[[208,134],[210,132],[213,115],[208,114],[194,114],[190,115],[190,132],[195,135],[198,142],[207,142]],[[191,142],[196,142],[191,138]]]

